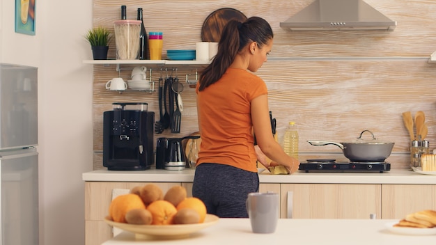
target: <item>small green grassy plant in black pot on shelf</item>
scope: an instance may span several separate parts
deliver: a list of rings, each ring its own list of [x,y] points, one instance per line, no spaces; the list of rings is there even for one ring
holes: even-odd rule
[[[111,41],[111,32],[102,26],[88,30],[86,40],[88,40],[93,51],[95,60],[107,59],[107,51],[109,50],[109,42]]]

